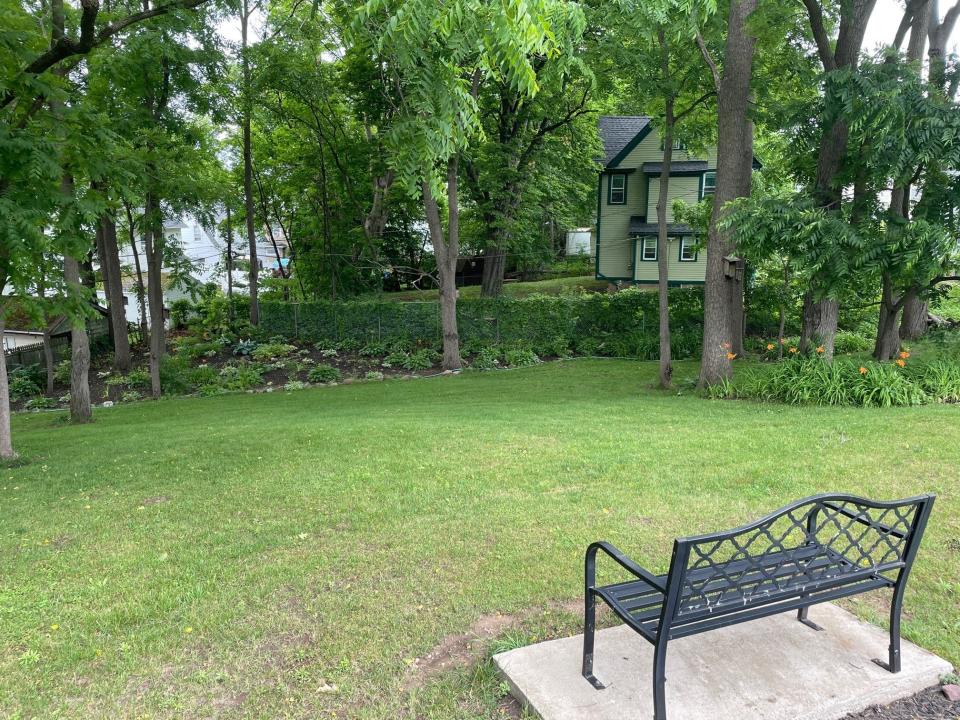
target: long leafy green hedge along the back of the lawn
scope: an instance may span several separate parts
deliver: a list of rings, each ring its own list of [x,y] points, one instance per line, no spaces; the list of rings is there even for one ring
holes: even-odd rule
[[[703,292],[670,291],[674,354],[693,356],[703,328]],[[457,303],[464,344],[567,347],[586,354],[654,357],[658,344],[657,294],[631,288],[614,294],[531,295]],[[291,340],[438,342],[439,302],[315,301],[260,303],[260,329]]]

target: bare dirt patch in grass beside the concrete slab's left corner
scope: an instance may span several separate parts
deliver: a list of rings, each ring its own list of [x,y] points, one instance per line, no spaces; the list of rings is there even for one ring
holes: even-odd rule
[[[546,609],[577,613],[583,606],[582,602],[582,600],[568,600],[552,603]],[[404,690],[423,687],[428,680],[441,673],[476,662],[483,656],[488,641],[507,630],[520,627],[543,610],[544,608],[536,608],[515,615],[501,613],[483,615],[466,632],[447,635],[433,650],[424,657],[417,658],[410,665],[403,683]]]

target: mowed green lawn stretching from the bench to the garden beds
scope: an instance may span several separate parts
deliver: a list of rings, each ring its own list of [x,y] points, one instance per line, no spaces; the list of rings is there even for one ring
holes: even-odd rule
[[[673,537],[826,490],[939,494],[904,634],[960,663],[956,407],[710,402],[651,390],[654,373],[579,360],[140,403],[87,427],[17,417],[0,716],[499,717],[489,662],[422,678],[414,659],[491,613],[525,619],[485,656],[578,632],[556,608],[591,540],[662,572]],[[851,607],[884,621],[883,598]]]

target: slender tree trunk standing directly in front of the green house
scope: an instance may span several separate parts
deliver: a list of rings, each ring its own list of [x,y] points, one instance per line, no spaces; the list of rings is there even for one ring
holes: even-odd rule
[[[670,83],[670,51],[666,34],[661,28],[660,40],[661,79]],[[660,387],[669,390],[673,382],[673,362],[670,353],[670,255],[667,235],[667,203],[670,200],[670,167],[673,164],[674,95],[666,93],[663,124],[663,163],[660,165],[660,193],[657,197],[657,306],[660,320]]]

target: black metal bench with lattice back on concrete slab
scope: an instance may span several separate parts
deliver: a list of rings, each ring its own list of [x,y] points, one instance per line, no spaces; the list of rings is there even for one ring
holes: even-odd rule
[[[653,575],[607,542],[587,548],[583,676],[593,675],[596,599],[600,598],[654,646],[655,720],[666,720],[667,641],[797,610],[815,630],[807,608],[878,588],[893,588],[890,657],[875,660],[900,671],[903,590],[933,495],[875,502],[852,495],[814,495],[735,530],[674,541],[670,571]],[[598,587],[597,551],[635,580]]]

